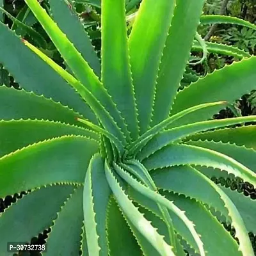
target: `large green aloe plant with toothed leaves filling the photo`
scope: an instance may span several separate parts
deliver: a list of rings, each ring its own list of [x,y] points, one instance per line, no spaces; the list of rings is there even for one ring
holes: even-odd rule
[[[26,0],[67,69],[0,24],[22,88],[0,87],[0,197],[26,192],[0,216],[1,255],[51,227],[43,255],[253,256],[255,203],[211,177],[255,186],[256,127],[228,126],[256,116],[211,118],[255,89],[256,57],[177,92],[204,0],[143,0],[129,38],[125,1],[102,0],[101,63],[72,4],[49,3]]]

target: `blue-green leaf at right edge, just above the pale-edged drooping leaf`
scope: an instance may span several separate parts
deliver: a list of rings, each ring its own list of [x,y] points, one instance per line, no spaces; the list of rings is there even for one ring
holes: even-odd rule
[[[239,163],[248,167],[256,173],[256,151],[252,148],[238,147],[230,143],[214,142],[214,141],[188,141],[189,145],[209,148],[211,150],[225,154],[226,156],[236,159]]]

